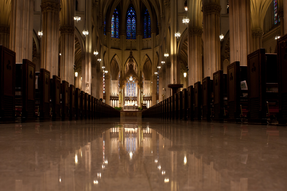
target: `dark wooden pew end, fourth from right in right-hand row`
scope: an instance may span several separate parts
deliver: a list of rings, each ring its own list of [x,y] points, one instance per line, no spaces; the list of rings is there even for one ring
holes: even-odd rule
[[[214,121],[224,121],[224,76],[223,70],[213,73]]]

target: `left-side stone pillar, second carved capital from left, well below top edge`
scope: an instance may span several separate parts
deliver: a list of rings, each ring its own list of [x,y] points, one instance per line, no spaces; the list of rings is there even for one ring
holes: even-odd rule
[[[75,22],[75,21],[73,21]],[[61,32],[61,80],[74,84],[75,25],[62,25]]]

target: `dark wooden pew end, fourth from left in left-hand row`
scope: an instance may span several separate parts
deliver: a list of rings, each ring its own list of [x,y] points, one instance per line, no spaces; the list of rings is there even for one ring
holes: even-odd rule
[[[52,120],[61,119],[61,78],[53,75],[51,85]]]

